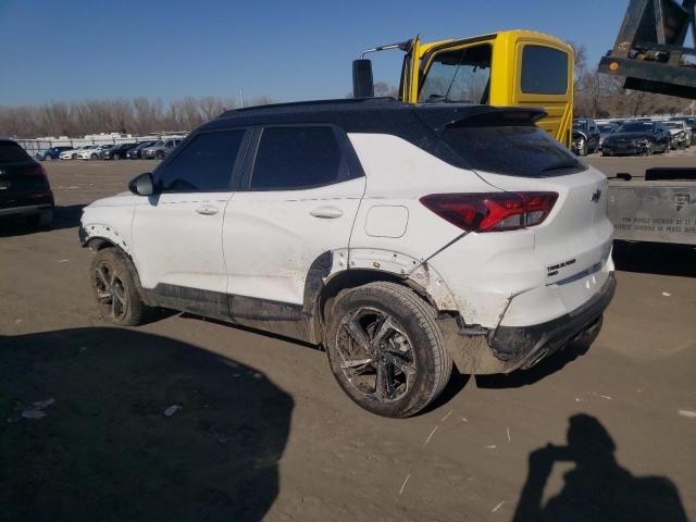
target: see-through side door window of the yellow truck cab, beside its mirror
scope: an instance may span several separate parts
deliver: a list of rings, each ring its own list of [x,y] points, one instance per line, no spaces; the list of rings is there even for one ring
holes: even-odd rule
[[[419,102],[488,103],[492,49],[488,44],[433,57]]]

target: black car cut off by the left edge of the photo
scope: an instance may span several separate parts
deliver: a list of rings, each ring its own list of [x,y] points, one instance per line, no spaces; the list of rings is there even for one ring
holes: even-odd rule
[[[0,216],[21,215],[48,227],[53,221],[53,192],[46,170],[18,144],[0,138]]]

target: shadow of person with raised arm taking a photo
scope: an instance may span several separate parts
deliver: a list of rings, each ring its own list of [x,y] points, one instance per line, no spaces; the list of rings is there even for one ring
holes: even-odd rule
[[[594,417],[570,419],[568,445],[546,445],[530,453],[530,469],[512,522],[685,522],[676,486],[667,477],[637,477],[619,465],[617,446]],[[543,504],[557,462],[573,462],[562,490]]]

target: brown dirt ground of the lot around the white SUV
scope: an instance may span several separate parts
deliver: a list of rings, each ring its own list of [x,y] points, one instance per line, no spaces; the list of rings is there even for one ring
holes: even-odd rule
[[[0,521],[696,520],[694,249],[617,247],[589,350],[456,376],[386,420],[312,347],[187,314],[101,321],[80,209],[152,165],[47,163],[54,229],[0,226]]]

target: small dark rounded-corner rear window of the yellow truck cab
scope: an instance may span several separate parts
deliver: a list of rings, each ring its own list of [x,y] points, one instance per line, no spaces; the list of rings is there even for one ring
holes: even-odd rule
[[[522,92],[564,95],[568,91],[568,53],[542,46],[524,46]]]

